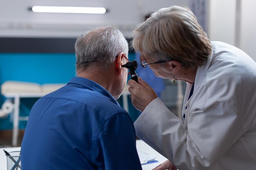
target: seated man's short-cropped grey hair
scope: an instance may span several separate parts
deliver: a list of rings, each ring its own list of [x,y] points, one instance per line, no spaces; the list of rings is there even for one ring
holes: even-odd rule
[[[111,26],[83,33],[76,40],[75,50],[76,73],[92,65],[108,69],[121,52],[128,57],[128,43],[124,35]]]

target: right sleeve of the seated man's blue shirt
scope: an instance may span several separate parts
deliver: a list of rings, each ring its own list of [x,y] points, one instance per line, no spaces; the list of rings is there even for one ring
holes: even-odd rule
[[[103,125],[98,136],[98,162],[105,170],[141,170],[135,129],[128,113],[118,113]],[[101,168],[99,168],[101,169]]]

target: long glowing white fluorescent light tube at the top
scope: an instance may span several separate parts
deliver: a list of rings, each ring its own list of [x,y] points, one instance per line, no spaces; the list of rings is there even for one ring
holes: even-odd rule
[[[105,8],[101,7],[51,7],[51,6],[34,6],[33,12],[50,12],[50,13],[106,13]]]

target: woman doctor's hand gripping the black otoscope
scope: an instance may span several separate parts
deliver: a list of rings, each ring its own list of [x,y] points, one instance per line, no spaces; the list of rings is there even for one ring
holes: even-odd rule
[[[131,93],[130,98],[132,100],[132,105],[140,111],[143,111],[150,102],[157,98],[157,94],[146,82],[144,82],[140,77],[138,82],[130,79],[129,92]]]

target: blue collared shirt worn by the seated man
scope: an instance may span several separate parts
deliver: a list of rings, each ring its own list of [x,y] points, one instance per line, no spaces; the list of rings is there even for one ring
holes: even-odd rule
[[[82,77],[34,104],[21,162],[22,170],[141,170],[128,113]]]

